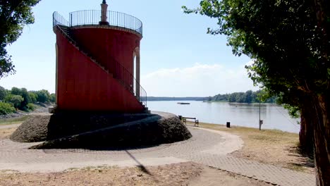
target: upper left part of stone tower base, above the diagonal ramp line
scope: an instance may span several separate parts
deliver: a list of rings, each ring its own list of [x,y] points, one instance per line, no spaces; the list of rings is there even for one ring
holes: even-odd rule
[[[56,112],[30,116],[13,132],[15,142],[44,142],[154,116],[149,113]],[[159,116],[160,117],[160,116]]]

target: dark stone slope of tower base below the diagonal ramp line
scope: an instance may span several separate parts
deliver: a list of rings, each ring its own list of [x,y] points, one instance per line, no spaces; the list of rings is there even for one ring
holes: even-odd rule
[[[109,128],[83,132],[39,144],[30,149],[104,149],[152,146],[188,140],[192,135],[178,117],[159,115]]]

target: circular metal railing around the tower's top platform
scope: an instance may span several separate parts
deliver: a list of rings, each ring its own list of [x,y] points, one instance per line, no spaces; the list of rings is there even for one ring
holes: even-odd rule
[[[97,10],[71,12],[69,19],[70,26],[99,25],[101,14],[102,11]],[[124,27],[142,35],[142,21],[138,18],[116,11],[106,11],[106,17],[109,26]]]

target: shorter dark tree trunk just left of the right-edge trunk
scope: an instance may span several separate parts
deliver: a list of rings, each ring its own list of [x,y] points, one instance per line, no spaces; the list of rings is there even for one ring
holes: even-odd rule
[[[308,100],[310,103],[310,100]],[[300,132],[299,132],[299,144],[300,149],[308,155],[314,153],[314,130],[313,124],[317,121],[315,118],[315,111],[310,106],[303,106],[300,111]]]

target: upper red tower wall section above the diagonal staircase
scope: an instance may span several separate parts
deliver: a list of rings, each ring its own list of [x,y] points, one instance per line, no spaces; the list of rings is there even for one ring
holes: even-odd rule
[[[138,35],[122,30],[79,27],[73,29],[73,36],[104,67],[111,69],[111,62],[116,60],[134,74],[133,51],[140,46],[141,39]]]

